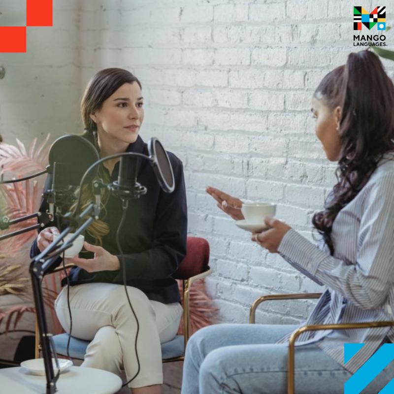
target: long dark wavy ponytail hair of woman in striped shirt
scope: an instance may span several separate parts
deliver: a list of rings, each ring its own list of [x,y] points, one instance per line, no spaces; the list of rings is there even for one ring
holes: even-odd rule
[[[394,149],[394,85],[379,58],[361,51],[329,72],[314,96],[332,110],[338,105],[342,109],[337,183],[324,210],[312,219],[333,255],[330,234],[337,214],[358,195],[384,153]]]

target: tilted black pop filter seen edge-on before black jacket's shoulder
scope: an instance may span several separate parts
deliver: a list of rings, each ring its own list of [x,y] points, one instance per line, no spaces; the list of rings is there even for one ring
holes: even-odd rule
[[[171,193],[175,188],[174,173],[163,145],[153,137],[148,141],[148,152],[151,159],[153,171],[159,185],[166,193]]]

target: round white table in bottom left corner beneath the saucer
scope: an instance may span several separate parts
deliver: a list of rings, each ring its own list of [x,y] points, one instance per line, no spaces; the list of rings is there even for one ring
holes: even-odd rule
[[[60,374],[56,394],[114,394],[122,387],[119,376],[96,368],[72,366]],[[0,369],[0,392],[45,394],[45,376],[32,375],[23,367]]]

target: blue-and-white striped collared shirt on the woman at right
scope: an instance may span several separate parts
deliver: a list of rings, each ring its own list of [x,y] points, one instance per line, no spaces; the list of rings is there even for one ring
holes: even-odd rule
[[[327,290],[304,325],[393,320],[394,308],[394,155],[385,154],[359,194],[335,218],[334,255],[295,230],[283,237],[278,252],[296,269]],[[296,345],[314,343],[354,373],[394,328],[308,331]],[[279,343],[288,341],[286,335]],[[344,343],[365,343],[344,364]]]

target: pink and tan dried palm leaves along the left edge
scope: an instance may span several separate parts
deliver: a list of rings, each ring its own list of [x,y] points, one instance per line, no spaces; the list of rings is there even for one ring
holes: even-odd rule
[[[49,137],[50,134],[46,136],[45,140],[38,147],[36,147],[37,138],[34,138],[28,151],[18,139],[16,140],[17,146],[1,142],[0,175],[6,174],[7,179],[11,178],[10,175],[14,178],[22,178],[42,171],[48,162]],[[14,220],[36,212],[40,203],[39,192],[39,184],[33,179],[1,185],[1,214],[7,216],[9,220]],[[36,223],[36,218],[29,219],[12,225],[8,230],[0,231],[0,235],[33,226]],[[27,255],[27,247],[29,247],[36,233],[36,230],[31,230],[0,241],[0,267],[4,273],[2,288],[7,290],[8,293],[31,297],[32,292],[30,280],[28,279],[30,258]],[[16,271],[19,273],[18,277],[14,275]],[[46,282],[46,279],[44,281]],[[43,293],[45,295],[45,304],[50,307],[51,313],[54,314],[52,289],[43,287]],[[15,329],[25,312],[34,312],[34,308],[26,305],[16,305],[7,310],[0,310],[0,325],[1,322],[5,321],[5,332],[9,330],[12,321]]]

